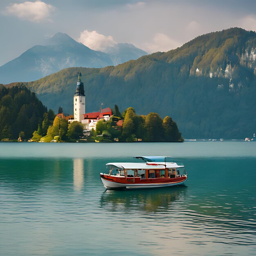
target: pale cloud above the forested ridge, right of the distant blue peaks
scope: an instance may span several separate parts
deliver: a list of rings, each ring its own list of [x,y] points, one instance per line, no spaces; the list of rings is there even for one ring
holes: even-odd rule
[[[152,42],[144,43],[144,48],[146,52],[167,52],[171,49],[175,49],[180,46],[180,43],[172,38],[168,37],[166,34],[157,33],[153,37]]]

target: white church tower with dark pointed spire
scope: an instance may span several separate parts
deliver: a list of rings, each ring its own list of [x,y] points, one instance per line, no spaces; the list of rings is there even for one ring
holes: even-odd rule
[[[85,94],[80,76],[81,73],[78,76],[76,92],[74,94],[74,120],[81,123],[81,121],[84,119],[83,115],[85,114]]]

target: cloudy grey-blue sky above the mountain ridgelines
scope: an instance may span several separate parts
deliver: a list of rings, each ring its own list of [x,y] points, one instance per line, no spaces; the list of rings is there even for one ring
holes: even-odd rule
[[[255,0],[1,0],[0,65],[63,32],[102,50],[132,43],[168,51],[201,34],[256,30]]]

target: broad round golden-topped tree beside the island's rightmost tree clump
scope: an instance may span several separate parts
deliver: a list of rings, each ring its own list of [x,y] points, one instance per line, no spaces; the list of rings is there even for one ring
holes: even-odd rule
[[[163,141],[163,120],[157,113],[150,112],[145,119],[145,141]]]

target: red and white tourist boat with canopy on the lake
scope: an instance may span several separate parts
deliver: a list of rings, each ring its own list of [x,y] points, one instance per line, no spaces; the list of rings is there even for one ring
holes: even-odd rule
[[[101,173],[106,189],[146,189],[183,184],[187,179],[184,165],[171,157],[137,156],[144,162],[108,163],[109,173]]]

